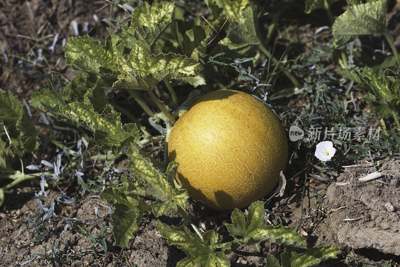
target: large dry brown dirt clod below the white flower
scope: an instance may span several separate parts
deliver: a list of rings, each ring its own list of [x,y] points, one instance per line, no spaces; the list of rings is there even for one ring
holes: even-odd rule
[[[373,167],[346,168],[327,189],[324,207],[332,212],[316,228],[315,234],[331,235],[342,248],[375,248],[400,254],[399,167],[400,160],[388,160],[379,168],[383,175],[380,182],[366,183],[359,183],[357,179],[373,172]],[[341,206],[345,208],[338,209]],[[318,243],[324,240],[319,238]]]

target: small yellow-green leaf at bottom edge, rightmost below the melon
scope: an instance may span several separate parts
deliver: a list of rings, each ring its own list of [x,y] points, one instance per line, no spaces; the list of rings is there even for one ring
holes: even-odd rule
[[[297,254],[293,248],[287,247],[281,254],[282,267],[308,267],[314,266],[329,258],[337,257],[340,249],[334,245],[307,248],[303,253]]]

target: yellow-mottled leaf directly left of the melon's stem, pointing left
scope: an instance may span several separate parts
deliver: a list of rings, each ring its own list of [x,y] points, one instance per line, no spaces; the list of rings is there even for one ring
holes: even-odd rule
[[[98,114],[90,104],[74,102],[63,107],[60,115],[94,132],[94,140],[89,141],[87,149],[111,149],[117,154],[123,147],[135,144],[140,138],[136,125],[122,125],[119,113],[110,105],[106,105]]]

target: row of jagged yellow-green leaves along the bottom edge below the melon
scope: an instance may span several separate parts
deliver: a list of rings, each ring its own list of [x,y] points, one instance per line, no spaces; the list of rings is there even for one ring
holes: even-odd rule
[[[277,258],[268,255],[265,266],[312,266],[321,260],[334,258],[340,252],[335,246],[320,246],[306,248],[304,252],[297,254],[293,247],[305,248],[305,239],[296,233],[296,227],[266,225],[263,205],[262,201],[252,203],[246,221],[240,210],[233,211],[233,224],[226,224],[229,233],[235,236],[230,242],[220,243],[220,238],[214,230],[207,231],[198,238],[184,225],[168,226],[160,221],[157,221],[157,230],[168,239],[170,245],[176,245],[186,252],[187,257],[179,261],[177,266],[191,266],[191,262],[200,266],[230,266],[224,253],[227,254],[240,245],[251,245],[261,241],[281,243],[285,246],[285,251],[281,254],[282,265]],[[236,236],[243,238],[237,239]],[[218,248],[222,248],[223,252],[215,252]]]

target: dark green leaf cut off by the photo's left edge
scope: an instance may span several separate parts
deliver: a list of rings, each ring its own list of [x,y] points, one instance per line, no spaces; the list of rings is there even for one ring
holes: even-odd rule
[[[0,121],[4,123],[11,138],[10,145],[16,147],[17,155],[37,148],[38,132],[33,126],[26,108],[9,91],[0,93]]]

